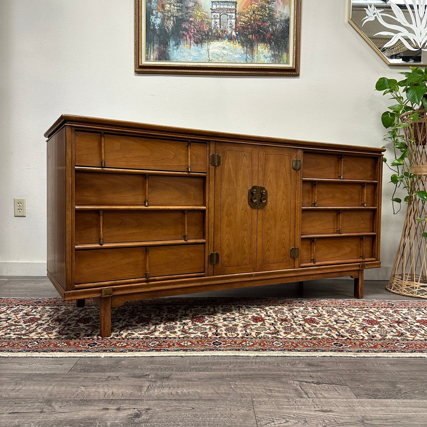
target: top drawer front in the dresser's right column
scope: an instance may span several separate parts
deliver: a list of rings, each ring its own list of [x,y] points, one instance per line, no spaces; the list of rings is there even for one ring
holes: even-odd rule
[[[377,179],[377,158],[304,153],[302,176],[374,181]]]

